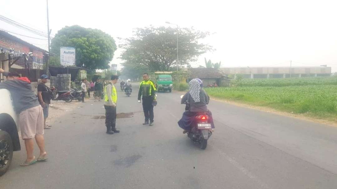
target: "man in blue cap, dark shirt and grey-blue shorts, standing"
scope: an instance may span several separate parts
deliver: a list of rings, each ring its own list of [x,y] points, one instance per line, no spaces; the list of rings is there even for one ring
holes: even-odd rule
[[[51,90],[49,87],[45,85],[49,77],[47,75],[41,75],[40,79],[41,79],[41,82],[37,85],[37,97],[38,97],[40,105],[43,108],[43,118],[44,118],[43,127],[45,129],[50,129],[51,126],[45,124],[45,121],[47,120],[48,113],[49,113],[50,100],[52,99]]]

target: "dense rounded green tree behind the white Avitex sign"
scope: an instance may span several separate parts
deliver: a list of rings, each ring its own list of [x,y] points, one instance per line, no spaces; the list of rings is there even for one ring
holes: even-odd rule
[[[51,52],[57,54],[51,63],[59,63],[60,47],[76,48],[76,66],[88,69],[106,69],[117,49],[114,38],[98,29],[66,26],[59,30],[51,43]],[[55,60],[56,59],[56,60]]]

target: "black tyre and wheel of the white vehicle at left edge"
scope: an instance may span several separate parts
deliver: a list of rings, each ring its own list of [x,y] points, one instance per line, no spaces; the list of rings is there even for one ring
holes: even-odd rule
[[[13,142],[10,135],[0,130],[0,176],[6,173],[12,162]]]

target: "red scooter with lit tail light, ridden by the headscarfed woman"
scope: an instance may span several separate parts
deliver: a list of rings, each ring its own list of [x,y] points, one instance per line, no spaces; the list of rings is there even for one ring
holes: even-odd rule
[[[180,96],[183,98],[183,95]],[[185,110],[189,111],[190,106],[189,103],[184,103]],[[206,149],[207,140],[212,136],[212,125],[209,121],[209,113],[208,112],[198,112],[194,115],[194,121],[191,128],[191,131],[187,132],[187,136],[194,142],[198,142],[201,149]]]

